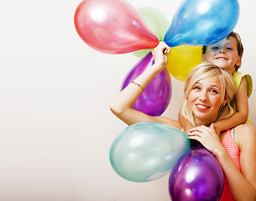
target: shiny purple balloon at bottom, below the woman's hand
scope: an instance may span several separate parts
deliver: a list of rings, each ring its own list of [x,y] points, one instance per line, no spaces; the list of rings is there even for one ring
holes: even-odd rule
[[[175,163],[169,178],[173,201],[216,201],[222,196],[224,178],[217,158],[198,145]]]

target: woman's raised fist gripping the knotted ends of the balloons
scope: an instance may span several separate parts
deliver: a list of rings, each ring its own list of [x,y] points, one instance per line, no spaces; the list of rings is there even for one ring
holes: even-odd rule
[[[165,42],[161,41],[151,52],[154,57],[154,64],[159,66],[161,70],[164,70],[167,64],[166,54],[170,53],[170,47],[165,44]]]

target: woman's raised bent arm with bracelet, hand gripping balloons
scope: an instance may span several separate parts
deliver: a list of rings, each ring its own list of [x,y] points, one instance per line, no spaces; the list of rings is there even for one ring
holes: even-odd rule
[[[123,89],[118,97],[112,102],[110,109],[120,120],[124,121],[128,125],[141,121],[156,121],[180,129],[178,121],[171,120],[164,116],[148,116],[143,112],[133,109],[133,105],[135,101],[137,101],[139,95],[142,94],[143,89],[149,85],[149,82],[153,80],[156,75],[165,69],[167,63],[166,54],[169,52],[170,47],[164,42],[160,42],[159,45],[152,50],[154,64],[133,80],[135,84],[130,83],[125,89]]]

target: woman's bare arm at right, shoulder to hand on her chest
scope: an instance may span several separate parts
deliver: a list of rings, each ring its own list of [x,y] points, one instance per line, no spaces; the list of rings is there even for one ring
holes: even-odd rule
[[[189,134],[189,138],[201,142],[217,157],[235,200],[254,201],[256,200],[256,130],[251,125],[241,125],[235,128],[234,133],[234,139],[240,151],[241,172],[222,146],[213,124],[210,128],[195,127]]]

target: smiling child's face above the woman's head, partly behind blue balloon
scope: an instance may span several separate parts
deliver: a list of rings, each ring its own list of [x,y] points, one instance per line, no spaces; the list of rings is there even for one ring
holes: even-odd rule
[[[236,39],[229,37],[228,39],[222,39],[217,44],[208,45],[202,60],[216,64],[232,75],[236,70],[235,65],[239,66],[241,64],[241,56],[238,55]]]

